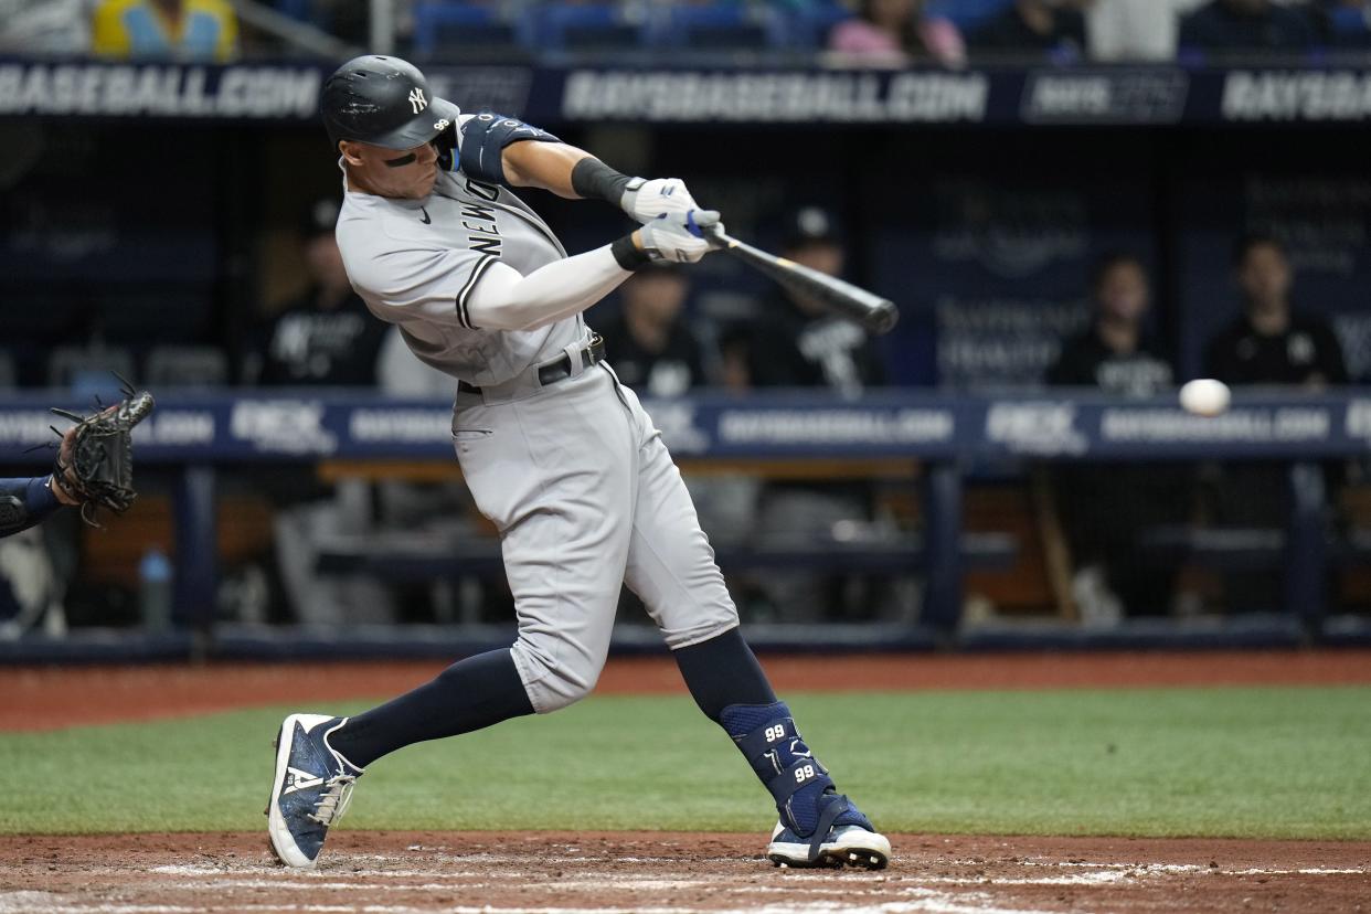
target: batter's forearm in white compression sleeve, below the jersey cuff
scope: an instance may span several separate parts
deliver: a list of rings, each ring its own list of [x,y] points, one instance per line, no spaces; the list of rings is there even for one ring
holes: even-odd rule
[[[472,326],[535,330],[580,314],[632,275],[620,266],[611,247],[554,260],[528,275],[492,264],[466,301]]]

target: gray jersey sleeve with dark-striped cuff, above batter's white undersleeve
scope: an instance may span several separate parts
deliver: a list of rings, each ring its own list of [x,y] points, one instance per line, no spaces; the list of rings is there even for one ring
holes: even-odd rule
[[[352,288],[372,314],[389,323],[422,318],[443,326],[474,329],[472,291],[498,262],[472,249],[407,248],[347,263]]]

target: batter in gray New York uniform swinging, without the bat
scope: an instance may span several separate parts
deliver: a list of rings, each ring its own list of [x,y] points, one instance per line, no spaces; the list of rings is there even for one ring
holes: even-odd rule
[[[627,582],[701,710],[775,798],[771,861],[886,866],[890,841],[836,792],[739,634],[680,473],[583,317],[654,260],[705,256],[718,214],[679,180],[629,178],[514,118],[463,115],[395,58],[343,64],[322,114],[344,175],[337,240],[354,288],[458,381],[454,445],[500,532],[518,637],[365,714],[287,717],[267,806],[277,856],[314,866],[383,755],[588,695]],[[510,188],[605,200],[642,226],[569,256]]]

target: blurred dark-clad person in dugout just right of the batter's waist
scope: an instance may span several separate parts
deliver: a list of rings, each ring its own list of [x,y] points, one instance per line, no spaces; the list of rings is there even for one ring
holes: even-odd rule
[[[644,270],[620,286],[622,312],[600,336],[618,380],[639,393],[672,397],[706,382],[699,340],[681,321],[688,293],[675,266]]]

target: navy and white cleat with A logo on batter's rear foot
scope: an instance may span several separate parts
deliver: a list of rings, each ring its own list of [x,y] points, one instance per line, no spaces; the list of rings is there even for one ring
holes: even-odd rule
[[[352,799],[362,769],[328,743],[329,733],[345,722],[344,717],[292,714],[281,724],[266,814],[271,851],[287,866],[314,866],[329,826]]]

